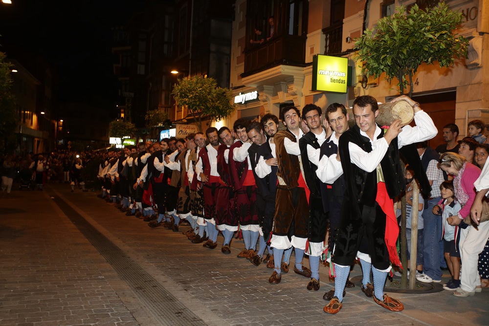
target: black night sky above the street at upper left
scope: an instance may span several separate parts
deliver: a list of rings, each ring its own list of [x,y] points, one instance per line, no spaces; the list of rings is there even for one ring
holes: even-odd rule
[[[38,53],[55,66],[64,100],[114,99],[111,27],[124,24],[141,0],[0,2],[0,44]],[[0,46],[0,51],[6,51]],[[8,51],[7,56],[9,56]]]

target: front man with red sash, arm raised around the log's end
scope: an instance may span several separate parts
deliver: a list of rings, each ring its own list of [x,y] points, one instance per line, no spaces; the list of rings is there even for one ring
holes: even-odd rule
[[[375,122],[377,100],[365,95],[353,104],[356,126],[339,139],[347,191],[335,238],[335,292],[323,309],[326,313],[335,314],[342,308],[343,290],[356,256],[364,275],[362,291],[367,296],[373,292],[374,301],[388,310],[404,309],[399,300],[383,293],[390,261],[400,265],[396,250],[399,227],[392,200],[405,188],[399,148],[431,139],[437,130],[418,103],[407,96],[394,99],[399,100],[413,107],[416,127],[402,126],[400,120],[395,120],[384,133]],[[370,283],[371,272],[374,285]]]

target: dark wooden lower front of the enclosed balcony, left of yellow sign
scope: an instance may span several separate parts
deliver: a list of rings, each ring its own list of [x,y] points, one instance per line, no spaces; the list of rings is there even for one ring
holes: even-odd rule
[[[283,35],[244,50],[243,77],[277,65],[304,65],[306,37]]]

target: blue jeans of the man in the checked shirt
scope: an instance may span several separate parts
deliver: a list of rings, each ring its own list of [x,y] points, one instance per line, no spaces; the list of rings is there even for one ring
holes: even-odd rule
[[[442,279],[440,269],[440,261],[443,257],[443,241],[440,241],[442,239],[442,217],[431,213],[440,199],[436,197],[428,200],[428,206],[423,210],[423,271],[433,280]]]

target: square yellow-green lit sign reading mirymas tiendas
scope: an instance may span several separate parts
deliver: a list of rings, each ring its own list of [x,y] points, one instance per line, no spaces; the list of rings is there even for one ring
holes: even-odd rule
[[[348,58],[315,55],[312,58],[312,90],[346,93]]]

